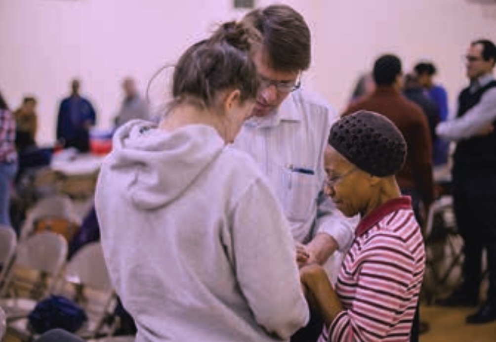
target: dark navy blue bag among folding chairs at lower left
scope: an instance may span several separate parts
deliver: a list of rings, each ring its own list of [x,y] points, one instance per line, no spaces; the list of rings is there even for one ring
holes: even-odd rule
[[[61,328],[74,333],[88,320],[84,310],[63,296],[51,295],[36,304],[28,316],[34,332],[43,334],[50,329]]]

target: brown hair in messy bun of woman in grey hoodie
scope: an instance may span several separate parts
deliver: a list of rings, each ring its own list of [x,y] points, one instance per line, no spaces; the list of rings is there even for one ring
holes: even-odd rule
[[[189,47],[174,70],[171,105],[193,99],[210,107],[218,92],[228,89],[239,89],[242,102],[254,99],[258,79],[249,53],[256,40],[254,29],[232,21]]]

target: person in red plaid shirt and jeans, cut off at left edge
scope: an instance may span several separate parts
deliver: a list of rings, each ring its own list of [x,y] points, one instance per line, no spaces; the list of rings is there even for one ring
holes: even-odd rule
[[[0,93],[0,225],[10,226],[10,186],[16,172],[15,120]]]

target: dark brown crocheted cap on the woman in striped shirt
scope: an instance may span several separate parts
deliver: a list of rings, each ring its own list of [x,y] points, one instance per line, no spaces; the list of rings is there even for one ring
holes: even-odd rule
[[[329,144],[350,162],[377,177],[395,175],[406,157],[401,132],[385,116],[358,111],[332,125]]]

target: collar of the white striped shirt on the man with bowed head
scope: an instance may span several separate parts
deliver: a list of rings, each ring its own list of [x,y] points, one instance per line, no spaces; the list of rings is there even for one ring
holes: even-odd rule
[[[272,113],[265,117],[251,117],[245,125],[265,128],[279,126],[282,121],[299,122],[302,120],[302,114],[296,105],[295,95],[300,89],[291,92]]]

